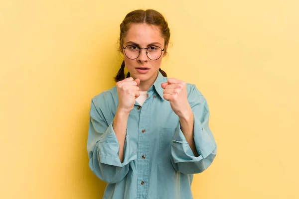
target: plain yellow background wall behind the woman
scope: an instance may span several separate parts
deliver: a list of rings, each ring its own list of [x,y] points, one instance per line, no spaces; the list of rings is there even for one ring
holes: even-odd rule
[[[98,199],[90,100],[115,85],[126,13],[171,30],[162,69],[196,84],[218,144],[194,199],[299,198],[298,0],[1,0],[0,198]]]

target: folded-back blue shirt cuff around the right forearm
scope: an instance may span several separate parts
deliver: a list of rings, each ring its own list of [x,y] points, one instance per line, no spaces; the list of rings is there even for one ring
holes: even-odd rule
[[[211,137],[213,136],[212,133],[209,129],[202,127],[201,122],[198,121],[200,121],[199,118],[194,115],[193,138],[199,156],[194,156],[189,143],[181,131],[180,124],[178,124],[173,140],[171,141],[171,156],[174,163],[198,162],[206,158],[215,150],[216,143]]]

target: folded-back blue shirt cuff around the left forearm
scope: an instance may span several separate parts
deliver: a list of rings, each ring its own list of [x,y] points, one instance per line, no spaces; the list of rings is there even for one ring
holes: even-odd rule
[[[113,121],[110,123],[97,145],[98,161],[100,163],[123,167],[137,159],[137,154],[135,153],[137,149],[130,144],[130,136],[127,132],[124,144],[124,161],[121,163],[119,158],[120,145],[113,129]]]

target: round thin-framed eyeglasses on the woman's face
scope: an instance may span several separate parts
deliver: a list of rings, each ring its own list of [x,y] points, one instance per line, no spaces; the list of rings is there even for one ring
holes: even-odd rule
[[[157,60],[161,57],[162,50],[159,46],[149,46],[148,48],[140,48],[138,45],[128,45],[123,47],[125,49],[125,55],[129,59],[137,59],[140,55],[141,49],[147,49],[147,56],[150,60]]]

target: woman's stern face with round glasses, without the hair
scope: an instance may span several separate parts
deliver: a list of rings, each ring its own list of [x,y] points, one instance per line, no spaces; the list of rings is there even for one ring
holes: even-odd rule
[[[132,60],[125,55],[125,49],[123,49],[125,65],[130,72],[131,77],[134,79],[139,78],[141,83],[153,83],[157,77],[157,71],[160,68],[164,52],[166,51],[166,47],[164,47],[164,38],[161,37],[158,27],[146,23],[133,23],[130,25],[130,29],[123,41],[123,47],[130,45],[127,48],[130,48],[131,53],[135,55],[136,53],[138,55],[139,52],[138,49],[136,50],[136,47],[148,48],[151,46],[148,50],[149,57],[150,55],[154,55],[155,51],[160,51],[156,46],[161,49],[165,48],[165,50],[162,51],[162,55],[157,60],[149,59],[147,56],[147,49],[140,49],[139,57]],[[130,55],[128,49],[126,49],[126,53],[127,55]],[[150,58],[152,59],[152,57]]]

